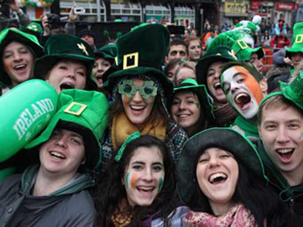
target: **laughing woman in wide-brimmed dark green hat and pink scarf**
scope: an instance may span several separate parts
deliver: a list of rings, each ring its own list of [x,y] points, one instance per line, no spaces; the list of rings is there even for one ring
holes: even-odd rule
[[[208,129],[187,140],[176,176],[181,200],[191,210],[183,226],[301,226],[266,187],[254,145],[230,128]]]

